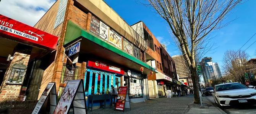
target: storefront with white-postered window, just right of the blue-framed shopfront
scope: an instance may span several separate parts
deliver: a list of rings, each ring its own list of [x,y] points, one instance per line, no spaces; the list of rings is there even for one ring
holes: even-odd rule
[[[126,70],[122,77],[122,85],[128,87],[129,98],[131,102],[142,102],[147,99],[144,98],[144,90],[147,88],[144,86],[144,74],[141,74],[135,70]]]

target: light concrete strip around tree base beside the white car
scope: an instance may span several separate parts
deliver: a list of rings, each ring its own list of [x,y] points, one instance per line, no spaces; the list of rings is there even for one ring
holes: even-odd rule
[[[199,104],[191,103],[189,110],[185,114],[227,114],[219,107],[213,105],[206,97],[203,97],[203,108]]]

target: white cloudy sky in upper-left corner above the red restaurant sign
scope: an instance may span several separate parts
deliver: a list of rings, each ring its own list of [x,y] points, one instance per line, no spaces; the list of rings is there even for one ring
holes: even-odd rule
[[[1,0],[0,14],[34,26],[55,0]]]

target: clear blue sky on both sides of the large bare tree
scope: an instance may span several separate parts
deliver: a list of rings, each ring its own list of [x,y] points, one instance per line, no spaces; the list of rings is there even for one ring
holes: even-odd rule
[[[177,47],[173,43],[169,34],[167,24],[154,13],[154,10],[144,6],[140,0],[105,0],[105,2],[112,7],[129,25],[138,21],[143,21],[149,30],[158,38],[160,43],[167,44],[167,51],[169,54],[177,55]],[[256,33],[256,0],[248,0],[247,2],[237,6],[230,13],[226,22],[236,19],[228,24],[226,27],[211,33],[214,38],[214,47],[212,51],[208,52],[205,56],[212,57],[214,62],[219,63],[222,67],[222,58],[224,52],[231,49],[239,49],[243,44]],[[254,41],[256,35],[241,49],[246,49]],[[251,58],[256,58],[255,55],[256,43],[249,47],[246,52]]]

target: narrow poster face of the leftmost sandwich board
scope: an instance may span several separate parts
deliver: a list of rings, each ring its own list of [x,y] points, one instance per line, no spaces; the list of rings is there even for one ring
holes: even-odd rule
[[[46,88],[44,89],[44,92],[42,93],[42,96],[38,100],[38,102],[36,104],[36,107],[34,108],[34,110],[32,111],[31,114],[38,114],[39,113],[41,107],[44,105],[45,100],[47,99],[49,93],[51,92],[53,85],[54,85],[54,83],[49,83],[46,86]],[[55,99],[52,99],[52,100],[56,100],[56,97],[55,97]]]

